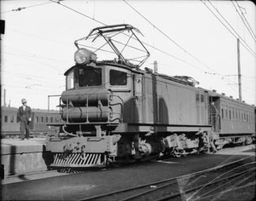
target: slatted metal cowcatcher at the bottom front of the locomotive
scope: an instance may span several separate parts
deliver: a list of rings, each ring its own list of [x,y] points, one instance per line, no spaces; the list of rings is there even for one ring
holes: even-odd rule
[[[105,167],[106,157],[103,153],[55,153],[52,168]]]

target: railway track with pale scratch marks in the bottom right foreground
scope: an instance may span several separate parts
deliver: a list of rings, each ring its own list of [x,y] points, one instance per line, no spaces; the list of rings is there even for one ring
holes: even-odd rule
[[[249,157],[248,157],[249,158]],[[216,193],[255,186],[255,162],[248,158],[189,175],[147,183],[137,187],[80,199],[88,200],[207,200]],[[248,181],[251,181],[247,185]]]

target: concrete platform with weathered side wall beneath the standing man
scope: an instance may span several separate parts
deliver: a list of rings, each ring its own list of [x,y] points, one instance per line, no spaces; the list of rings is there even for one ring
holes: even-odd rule
[[[4,171],[1,174],[4,176],[46,170],[51,162],[49,152],[45,152],[45,138],[1,141],[1,164]]]

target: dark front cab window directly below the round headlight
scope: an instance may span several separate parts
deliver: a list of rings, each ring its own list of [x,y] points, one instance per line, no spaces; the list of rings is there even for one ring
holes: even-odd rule
[[[102,68],[86,67],[79,69],[79,87],[101,86]]]

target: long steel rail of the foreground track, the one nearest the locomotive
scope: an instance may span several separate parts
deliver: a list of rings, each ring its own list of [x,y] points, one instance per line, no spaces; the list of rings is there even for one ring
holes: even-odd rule
[[[87,200],[95,200],[95,199],[97,199],[97,198],[104,198],[104,197],[108,197],[108,196],[111,196],[111,195],[114,195],[114,194],[118,194],[118,193],[121,193],[121,192],[129,192],[129,191],[137,190],[137,189],[143,188],[143,187],[150,187],[150,186],[152,186],[152,185],[160,184],[160,183],[163,183],[163,182],[166,182],[166,181],[175,181],[175,182],[176,182],[177,179],[183,178],[183,177],[185,177],[185,176],[202,175],[202,174],[205,174],[205,173],[210,172],[210,171],[212,171],[212,170],[222,169],[222,168],[227,167],[227,166],[230,166],[230,165],[232,165],[232,164],[237,164],[237,163],[239,163],[239,162],[241,162],[242,160],[245,160],[245,159],[247,159],[247,158],[252,158],[252,156],[249,156],[249,157],[246,157],[246,158],[241,158],[241,159],[239,159],[239,160],[230,162],[230,163],[228,163],[228,164],[218,165],[218,166],[213,167],[213,168],[211,168],[211,169],[204,169],[204,170],[201,170],[201,171],[192,173],[192,174],[187,174],[187,175],[172,177],[172,178],[169,178],[169,179],[166,179],[166,180],[161,180],[161,181],[154,181],[154,182],[150,182],[150,183],[147,183],[147,184],[143,184],[143,185],[140,185],[140,186],[137,186],[137,187],[129,187],[129,188],[121,189],[121,190],[114,191],[114,192],[102,193],[102,194],[100,194],[100,195],[93,196],[93,197],[90,197],[90,198],[82,198],[82,199],[79,199],[79,201],[87,201]],[[173,182],[173,183],[174,183],[174,182]],[[153,190],[154,190],[154,189],[151,189],[150,191],[153,191]],[[125,200],[125,199],[124,199],[124,200]]]

